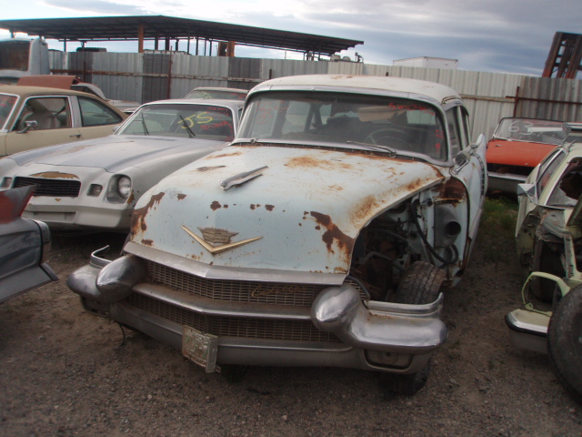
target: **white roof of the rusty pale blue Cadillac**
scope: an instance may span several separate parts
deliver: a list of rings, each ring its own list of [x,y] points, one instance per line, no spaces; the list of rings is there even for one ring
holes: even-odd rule
[[[348,76],[348,75],[305,75],[305,76],[287,76],[267,80],[255,86],[249,95],[256,92],[266,91],[268,89],[296,89],[297,87],[310,86],[310,89],[331,90],[330,88],[351,88],[346,92],[354,92],[358,88],[362,90],[378,90],[381,94],[406,93],[416,96],[429,97],[443,103],[451,98],[460,100],[457,91],[454,89],[434,82],[425,80],[409,79],[405,77],[389,76]],[[317,88],[313,88],[316,86]]]

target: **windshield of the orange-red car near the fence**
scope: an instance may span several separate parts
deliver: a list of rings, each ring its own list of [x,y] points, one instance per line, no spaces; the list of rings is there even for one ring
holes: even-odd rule
[[[499,122],[493,136],[559,146],[567,137],[567,125],[561,121],[536,118],[504,118]]]

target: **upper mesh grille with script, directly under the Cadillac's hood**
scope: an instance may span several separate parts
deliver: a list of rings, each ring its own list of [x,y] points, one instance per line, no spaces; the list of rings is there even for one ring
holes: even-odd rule
[[[205,279],[146,260],[148,281],[212,300],[311,307],[325,285]],[[350,282],[356,290],[360,287]],[[361,290],[360,290],[361,294]]]

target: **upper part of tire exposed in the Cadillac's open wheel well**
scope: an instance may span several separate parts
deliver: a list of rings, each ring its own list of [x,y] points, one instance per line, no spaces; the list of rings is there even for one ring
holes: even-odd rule
[[[396,289],[396,303],[421,305],[437,300],[445,271],[425,262],[414,262],[402,275]]]

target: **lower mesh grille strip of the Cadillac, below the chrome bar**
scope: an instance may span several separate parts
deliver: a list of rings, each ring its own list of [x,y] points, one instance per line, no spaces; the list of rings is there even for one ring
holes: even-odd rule
[[[204,316],[177,305],[133,293],[129,304],[166,320],[186,325],[196,330],[220,337],[237,337],[264,340],[341,342],[334,334],[317,330],[305,320],[264,320],[232,317]]]

